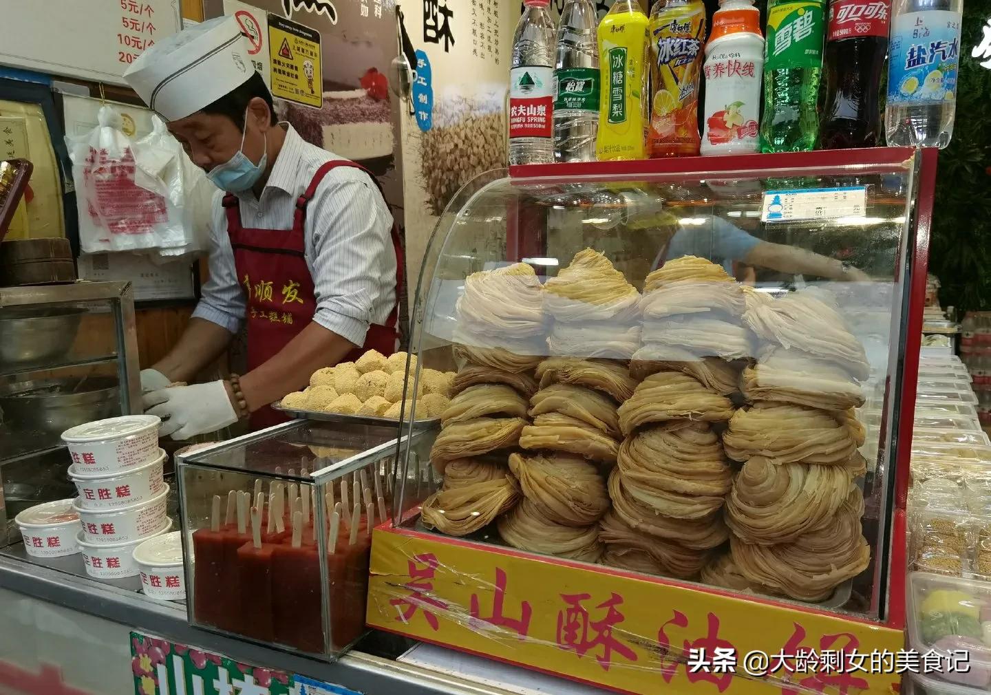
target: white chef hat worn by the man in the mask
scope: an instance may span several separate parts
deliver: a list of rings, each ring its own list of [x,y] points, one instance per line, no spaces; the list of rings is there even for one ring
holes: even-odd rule
[[[165,39],[124,72],[124,79],[166,121],[212,104],[255,72],[234,17],[218,17]]]

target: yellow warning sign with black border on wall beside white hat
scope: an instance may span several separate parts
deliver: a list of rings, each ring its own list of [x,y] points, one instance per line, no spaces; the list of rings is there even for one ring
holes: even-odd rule
[[[323,106],[320,32],[270,14],[269,57],[276,99]]]

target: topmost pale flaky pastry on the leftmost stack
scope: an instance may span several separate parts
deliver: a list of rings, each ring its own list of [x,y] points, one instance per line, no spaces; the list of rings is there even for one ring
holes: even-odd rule
[[[475,335],[543,336],[543,286],[525,263],[473,273],[458,299],[458,316]]]

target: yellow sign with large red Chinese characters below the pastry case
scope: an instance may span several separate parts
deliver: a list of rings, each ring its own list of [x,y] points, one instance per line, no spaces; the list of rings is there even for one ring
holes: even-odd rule
[[[905,640],[825,611],[386,527],[372,543],[367,620],[620,692],[672,695],[893,693]]]

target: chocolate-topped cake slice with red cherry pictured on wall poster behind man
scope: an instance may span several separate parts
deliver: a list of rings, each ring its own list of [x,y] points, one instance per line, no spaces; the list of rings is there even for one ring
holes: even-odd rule
[[[325,82],[326,84],[326,82]],[[375,67],[357,89],[333,85],[319,110],[279,100],[276,111],[308,143],[355,162],[391,158],[395,138],[388,80]]]

